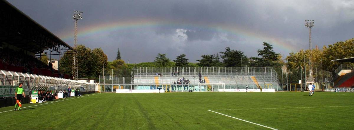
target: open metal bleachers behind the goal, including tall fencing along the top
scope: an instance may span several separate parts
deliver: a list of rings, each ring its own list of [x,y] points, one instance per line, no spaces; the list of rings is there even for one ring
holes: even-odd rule
[[[178,78],[183,77],[190,82],[174,84]],[[282,90],[278,85],[278,75],[271,67],[134,67],[131,82],[135,89],[171,86],[172,91],[188,91],[188,87],[190,89],[205,87],[205,91],[217,91],[223,87],[221,84],[229,89],[242,89],[248,86]],[[210,89],[215,85],[217,87]],[[188,86],[187,89],[185,86]]]

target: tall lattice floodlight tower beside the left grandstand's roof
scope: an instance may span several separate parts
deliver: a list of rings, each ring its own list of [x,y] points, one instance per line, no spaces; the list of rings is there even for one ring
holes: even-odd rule
[[[74,49],[76,49],[76,45],[78,42],[78,20],[82,19],[81,11],[74,11],[73,19],[75,22],[75,31],[74,31]],[[72,70],[73,79],[78,79],[78,53],[73,54],[73,70]]]

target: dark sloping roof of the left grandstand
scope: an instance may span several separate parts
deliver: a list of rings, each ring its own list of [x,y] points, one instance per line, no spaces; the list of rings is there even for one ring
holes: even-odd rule
[[[0,0],[0,45],[2,42],[35,54],[46,50],[58,53],[70,50],[77,52],[5,0]]]

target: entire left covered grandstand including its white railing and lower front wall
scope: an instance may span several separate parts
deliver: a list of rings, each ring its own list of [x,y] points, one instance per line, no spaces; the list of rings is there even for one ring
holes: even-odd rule
[[[52,90],[56,94],[71,87],[80,89],[81,94],[95,93],[98,84],[71,80],[69,75],[60,73],[60,68],[54,70],[51,64],[40,61],[47,55],[49,61],[57,58],[60,62],[65,52],[76,53],[76,50],[7,1],[0,0],[0,106],[15,104],[14,89],[21,82],[27,95],[23,103],[28,103],[28,95],[38,90]]]

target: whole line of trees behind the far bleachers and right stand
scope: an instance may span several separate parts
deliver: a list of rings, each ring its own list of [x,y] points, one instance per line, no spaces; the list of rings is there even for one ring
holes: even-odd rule
[[[307,49],[298,52],[291,52],[283,60],[281,54],[273,51],[273,46],[267,42],[263,42],[263,49],[258,49],[259,57],[247,57],[244,52],[234,50],[230,47],[225,47],[224,51],[216,54],[204,54],[196,62],[188,62],[185,54],[176,55],[175,59],[171,60],[166,57],[166,54],[158,53],[153,62],[126,64],[121,59],[119,49],[117,50],[116,59],[108,61],[107,55],[101,48],[90,49],[84,45],[78,45],[78,73],[79,78],[98,78],[101,69],[103,73],[103,64],[105,75],[124,76],[124,70],[127,77],[130,77],[130,72],[133,67],[241,67],[241,64],[249,67],[273,67],[279,75],[279,81],[285,81],[285,76],[280,76],[282,73],[291,73],[291,82],[298,81],[301,76],[304,79],[304,73],[309,75],[309,65],[313,70],[325,70],[334,72],[341,64],[332,62],[334,59],[354,57],[354,39],[347,41],[336,42],[333,45],[322,47],[322,49]],[[67,52],[72,53],[72,52]],[[72,54],[65,53],[60,60],[60,69],[62,73],[71,74],[72,71]],[[309,64],[309,59],[312,64]],[[282,69],[286,69],[283,71]],[[304,69],[306,68],[306,71]],[[335,75],[335,73],[331,73]],[[314,73],[314,77],[323,77],[319,73]],[[283,79],[284,78],[284,79]],[[288,79],[289,80],[289,79]],[[129,80],[130,81],[130,80]],[[128,80],[127,80],[128,82]],[[290,80],[289,80],[290,82]]]

